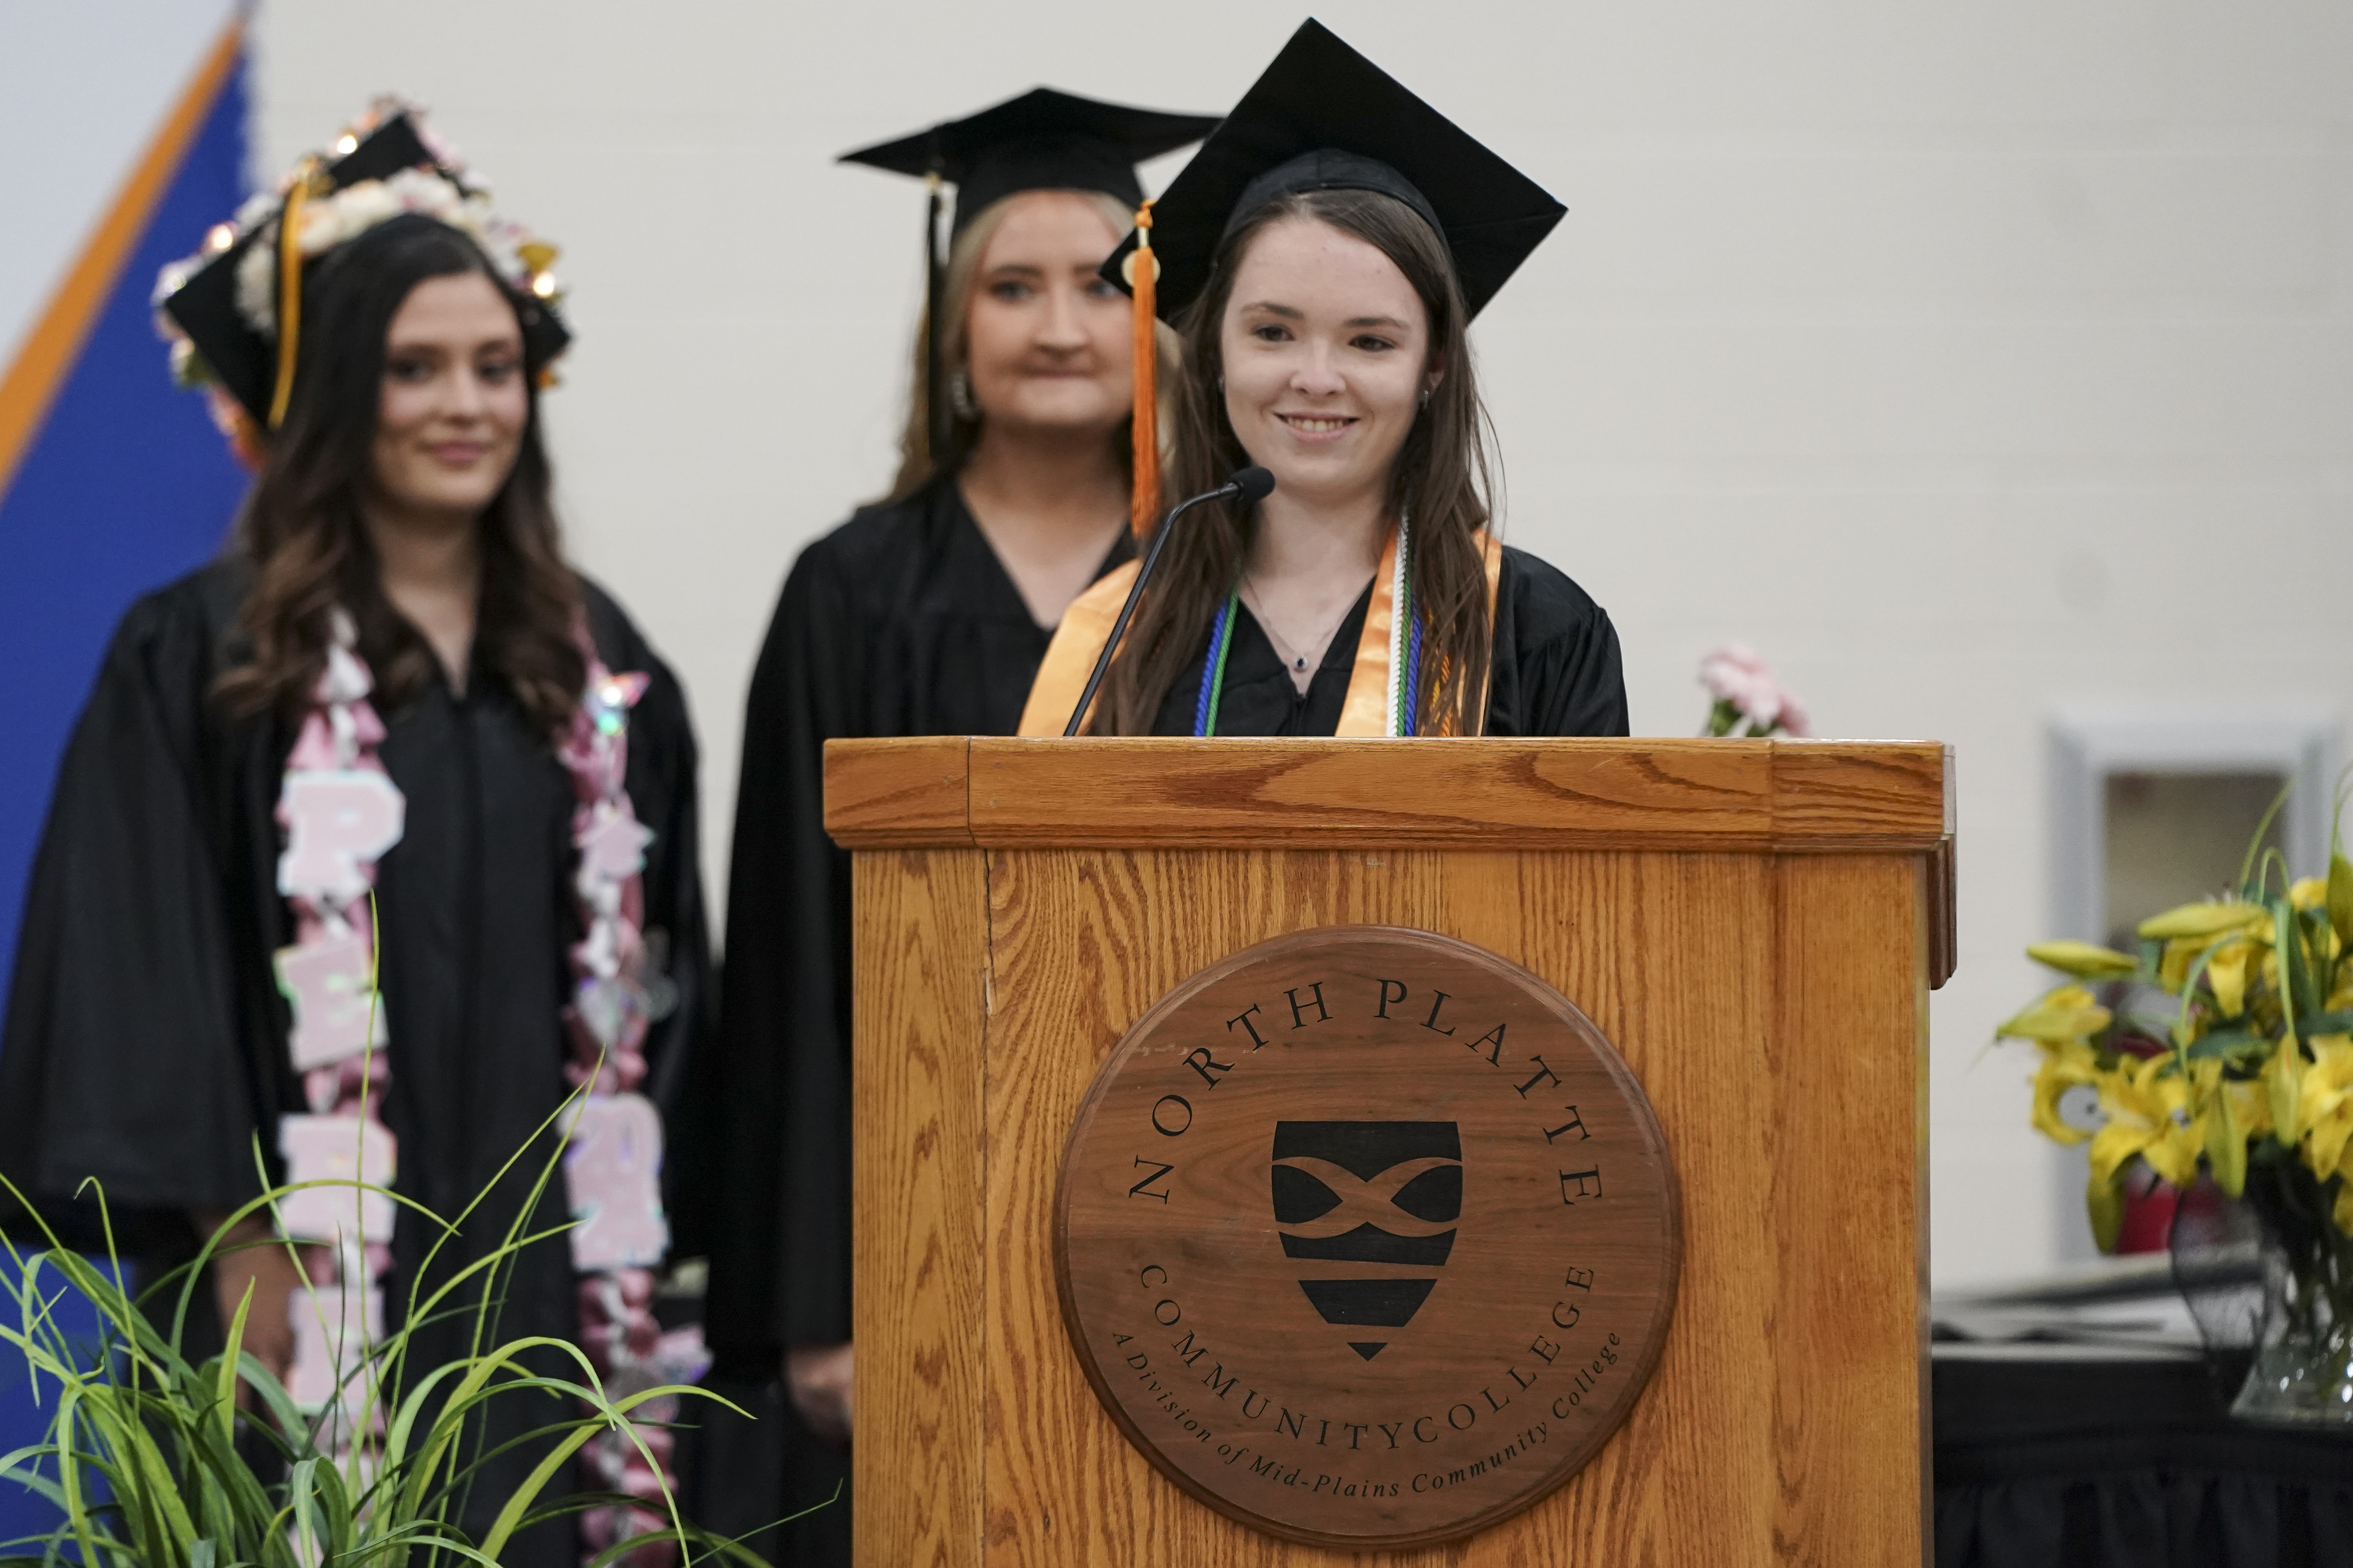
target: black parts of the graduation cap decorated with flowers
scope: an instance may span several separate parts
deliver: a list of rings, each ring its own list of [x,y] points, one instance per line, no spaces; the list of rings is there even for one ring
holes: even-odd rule
[[[409,110],[379,122],[360,136],[358,146],[334,162],[322,165],[320,174],[329,190],[344,190],[360,181],[391,179],[400,169],[431,169],[461,190],[471,188],[459,169],[447,167],[433,155]],[[245,411],[254,416],[256,428],[268,428],[271,395],[278,388],[278,343],[254,331],[252,322],[238,310],[238,261],[254,244],[268,242],[278,233],[275,226],[282,216],[285,202],[278,205],[275,214],[252,223],[228,249],[205,261],[162,301],[165,315],[188,334],[188,343],[198,357],[202,357],[212,376],[228,388]],[[318,261],[325,261],[325,256],[311,259],[311,263]],[[572,341],[572,331],[551,303],[518,294],[515,310],[522,320],[525,346],[536,364],[548,364]],[[280,320],[285,320],[282,306]]]

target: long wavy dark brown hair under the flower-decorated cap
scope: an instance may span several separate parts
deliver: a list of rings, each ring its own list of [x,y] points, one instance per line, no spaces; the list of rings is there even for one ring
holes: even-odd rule
[[[376,550],[360,520],[384,386],[384,343],[402,301],[426,277],[482,273],[506,284],[464,233],[426,216],[393,219],[315,263],[304,287],[304,339],[285,425],[238,517],[233,550],[254,569],[238,630],[249,658],[216,684],[231,712],[311,705],[327,663],[329,618],[346,609],[360,654],[391,703],[433,677],[433,649],[384,595]],[[520,317],[518,317],[520,320]],[[496,675],[551,741],[588,677],[572,628],[579,578],[565,564],[548,451],[539,435],[539,371],[525,362],[529,418],[515,470],[482,510],[482,597],[475,658]]]

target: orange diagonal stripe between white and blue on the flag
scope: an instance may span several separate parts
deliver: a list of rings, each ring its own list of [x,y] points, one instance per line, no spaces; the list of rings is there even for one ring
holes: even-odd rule
[[[113,207],[106,209],[99,228],[89,235],[89,244],[82,247],[73,270],[56,284],[49,308],[40,313],[40,322],[26,336],[16,362],[0,378],[0,496],[7,496],[26,447],[33,444],[33,435],[40,430],[42,418],[47,418],[56,390],[66,383],[66,371],[89,339],[89,327],[115,292],[122,263],[146,233],[148,219],[155,214],[155,202],[172,186],[188,143],[195,139],[198,127],[205,125],[205,115],[212,113],[212,101],[221,92],[228,68],[235,66],[242,42],[245,19],[240,14],[221,28],[221,40],[212,45],[195,80],[188,82],[188,92],[172,106],[172,118],[155,132],[146,158],[122,181]],[[158,346],[155,353],[160,360],[162,348]],[[162,374],[160,364],[155,374]]]

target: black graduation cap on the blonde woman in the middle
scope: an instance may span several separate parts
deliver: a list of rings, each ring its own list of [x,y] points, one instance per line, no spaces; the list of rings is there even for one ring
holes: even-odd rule
[[[955,186],[948,233],[1016,190],[1104,190],[1129,207],[1144,200],[1136,165],[1200,141],[1217,115],[1169,115],[1033,87],[1019,99],[882,141],[840,162],[892,174],[936,174]]]

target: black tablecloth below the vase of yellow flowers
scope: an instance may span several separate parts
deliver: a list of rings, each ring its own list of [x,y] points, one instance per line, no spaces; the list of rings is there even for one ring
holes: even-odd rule
[[[2202,1361],[1934,1366],[1937,1568],[2353,1568],[2353,1436],[2231,1422]]]

